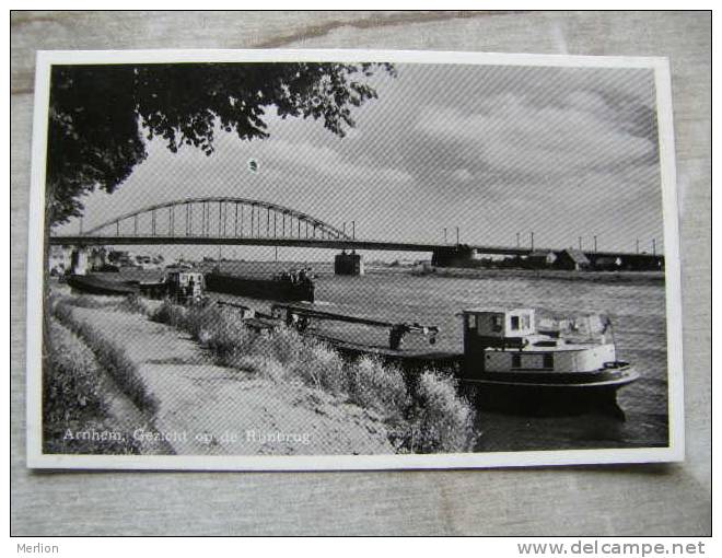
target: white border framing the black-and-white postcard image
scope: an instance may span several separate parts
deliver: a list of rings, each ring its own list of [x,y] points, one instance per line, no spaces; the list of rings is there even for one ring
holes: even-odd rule
[[[45,170],[50,67],[68,63],[337,61],[647,68],[654,70],[663,197],[669,445],[433,455],[58,455],[42,451]],[[444,469],[678,462],[685,456],[679,226],[669,65],[659,57],[596,57],[415,50],[58,50],[36,57],[27,246],[26,457],[31,468],[188,470]]]

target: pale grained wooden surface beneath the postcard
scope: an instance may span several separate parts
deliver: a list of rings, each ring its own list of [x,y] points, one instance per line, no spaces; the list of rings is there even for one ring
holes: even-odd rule
[[[12,533],[711,533],[711,148],[707,13],[13,13]],[[34,51],[401,48],[667,56],[682,220],[687,461],[382,473],[33,473],[25,468],[25,245]]]

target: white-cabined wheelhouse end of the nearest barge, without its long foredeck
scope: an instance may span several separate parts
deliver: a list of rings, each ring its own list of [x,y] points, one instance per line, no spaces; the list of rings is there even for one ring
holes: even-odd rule
[[[533,309],[469,309],[462,316],[461,377],[476,387],[480,407],[524,415],[621,415],[617,391],[639,374],[617,359],[609,321],[547,318],[542,333]]]

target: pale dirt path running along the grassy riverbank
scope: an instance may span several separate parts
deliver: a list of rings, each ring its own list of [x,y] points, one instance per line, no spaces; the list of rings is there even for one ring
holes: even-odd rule
[[[179,455],[393,453],[371,412],[300,383],[218,367],[185,333],[139,314],[73,307],[121,347],[158,399],[154,430]]]

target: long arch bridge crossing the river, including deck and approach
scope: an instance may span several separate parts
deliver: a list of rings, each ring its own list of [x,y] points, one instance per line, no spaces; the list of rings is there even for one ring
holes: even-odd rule
[[[428,242],[357,239],[322,219],[295,209],[241,197],[197,197],[156,204],[131,211],[77,235],[55,235],[51,245],[256,245],[422,252],[432,259],[473,259],[473,254],[528,256],[531,247],[459,245]],[[537,248],[537,252],[539,248]],[[548,248],[545,252],[560,252]],[[621,258],[636,268],[661,269],[664,256],[622,252],[585,252],[596,264],[602,258]],[[439,263],[439,265],[444,265]],[[449,265],[449,264],[446,264]]]

